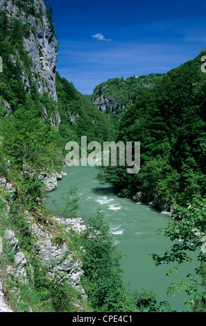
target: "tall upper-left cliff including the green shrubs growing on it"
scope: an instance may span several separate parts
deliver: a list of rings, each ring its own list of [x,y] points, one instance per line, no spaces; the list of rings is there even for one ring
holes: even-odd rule
[[[58,42],[54,36],[53,26],[48,19],[44,1],[0,1],[1,10],[1,56],[3,71],[10,71],[10,65],[19,71],[20,80],[26,92],[36,90],[44,96],[49,95],[57,102],[55,91],[55,70]],[[8,46],[10,44],[10,46]],[[17,75],[17,74],[16,74]],[[7,85],[9,91],[15,92],[13,85]],[[11,88],[11,89],[10,89]],[[9,102],[9,94],[3,94]],[[10,104],[9,104],[10,105]],[[15,104],[11,104],[15,110]],[[42,115],[49,116],[52,123],[59,123],[60,116],[56,105],[51,110],[43,105]],[[47,111],[48,110],[48,111]]]

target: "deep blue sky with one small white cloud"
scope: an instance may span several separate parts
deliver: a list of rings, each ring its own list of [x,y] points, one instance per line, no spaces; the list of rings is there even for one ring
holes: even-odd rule
[[[206,48],[206,0],[47,0],[58,71],[82,94],[109,78],[166,73]]]

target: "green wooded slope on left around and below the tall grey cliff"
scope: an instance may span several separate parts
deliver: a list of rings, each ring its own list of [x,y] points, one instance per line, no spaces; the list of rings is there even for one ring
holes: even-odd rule
[[[87,135],[88,141],[102,142],[111,139],[113,127],[110,117],[98,112],[74,85],[59,74],[56,74],[54,88],[58,101],[53,101],[50,91],[40,92],[40,76],[37,74],[40,75],[41,71],[35,71],[33,53],[28,53],[24,46],[36,37],[34,26],[19,19],[10,20],[3,11],[0,19],[3,60],[0,74],[1,175],[22,189],[22,182],[25,183],[22,170],[29,166],[37,178],[37,183],[29,186],[35,187],[35,197],[37,185],[42,185],[38,173],[60,169],[67,141],[80,141],[81,135]],[[40,16],[35,19],[40,20]],[[42,81],[42,85],[44,87],[46,82]]]

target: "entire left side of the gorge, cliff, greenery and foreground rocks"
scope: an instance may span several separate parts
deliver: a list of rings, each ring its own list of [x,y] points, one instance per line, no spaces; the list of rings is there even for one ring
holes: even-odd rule
[[[80,135],[106,140],[109,119],[56,76],[58,42],[44,1],[1,0],[0,10],[4,300],[13,311],[88,311],[75,242],[85,230],[83,221],[75,212],[64,221],[53,216],[44,198],[62,178],[67,141],[79,141]]]

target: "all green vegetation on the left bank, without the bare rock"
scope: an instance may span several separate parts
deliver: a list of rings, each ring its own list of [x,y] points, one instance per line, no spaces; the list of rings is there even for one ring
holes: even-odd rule
[[[40,19],[40,15],[28,6],[27,1],[19,2],[19,9],[24,10],[26,15]],[[46,10],[46,15],[54,33],[52,10]],[[80,94],[58,72],[55,80],[58,103],[46,92],[37,92],[33,63],[24,50],[24,37],[29,37],[31,33],[35,35],[34,27],[19,19],[8,19],[3,11],[0,21],[3,59],[3,72],[0,74],[0,174],[2,180],[15,188],[12,196],[2,185],[0,196],[0,237],[3,239],[0,275],[6,299],[14,311],[22,312],[31,309],[68,312],[78,311],[78,307],[81,311],[136,311],[132,294],[123,281],[119,263],[121,256],[116,252],[102,214],[98,212],[91,217],[87,221],[87,231],[80,236],[72,231],[68,234],[57,224],[53,225],[53,213],[44,206],[46,193],[39,178],[41,173],[60,171],[62,164],[65,164],[67,141],[80,143],[80,136],[86,135],[88,141],[96,140],[102,144],[103,141],[113,139],[113,123],[108,115],[96,110],[89,98]],[[23,74],[28,76],[31,83],[29,92],[25,89]],[[55,121],[56,114],[60,115],[59,124]],[[55,123],[51,123],[51,119]],[[10,205],[9,212],[7,202]],[[78,204],[74,204],[69,194],[65,207],[61,207],[58,215],[61,218],[70,216],[68,205],[71,207],[70,215],[78,216]],[[66,280],[56,283],[47,276],[49,266],[42,264],[41,259],[34,254],[35,238],[29,227],[28,214],[33,223],[40,223],[47,232],[55,228],[57,235],[53,238],[54,243],[62,246],[65,241],[69,243],[69,248],[77,252],[76,255],[83,261],[82,284],[87,300]],[[19,248],[29,262],[26,270],[31,276],[29,283],[24,284],[6,274],[6,268],[14,264],[16,254],[5,238],[8,229],[15,230]],[[101,232],[101,237],[96,234],[97,230]],[[88,232],[93,234],[92,238]],[[80,248],[85,250],[82,252]],[[96,250],[98,255],[94,255]],[[54,273],[54,277],[58,277],[58,273]],[[19,299],[15,296],[16,289]]]

